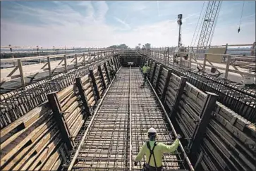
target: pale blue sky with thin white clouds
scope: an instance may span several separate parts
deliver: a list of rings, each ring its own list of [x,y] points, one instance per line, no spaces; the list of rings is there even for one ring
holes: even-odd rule
[[[204,4],[205,3],[205,4]],[[207,1],[1,1],[1,46],[196,45]],[[223,1],[212,45],[255,42],[255,1]],[[203,12],[204,13],[204,10]],[[200,25],[200,23],[198,24]],[[199,30],[197,26],[197,30]],[[197,36],[198,39],[199,36]]]

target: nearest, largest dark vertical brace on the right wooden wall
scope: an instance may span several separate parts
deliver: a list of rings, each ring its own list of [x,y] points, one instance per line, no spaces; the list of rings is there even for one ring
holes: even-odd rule
[[[195,127],[195,131],[193,132],[192,139],[188,144],[188,149],[190,151],[190,155],[195,155],[198,148],[200,148],[200,142],[203,139],[207,125],[209,124],[209,120],[212,117],[212,111],[214,110],[214,106],[216,104],[218,95],[206,92],[207,97],[205,99],[205,103],[202,106],[202,110],[200,112],[200,122],[197,123]]]

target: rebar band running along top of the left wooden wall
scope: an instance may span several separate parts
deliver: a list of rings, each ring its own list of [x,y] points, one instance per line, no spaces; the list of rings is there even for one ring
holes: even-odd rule
[[[53,91],[61,91],[75,82],[77,77],[87,75],[88,70],[97,70],[99,65],[107,62],[115,65],[118,68],[119,63],[116,63],[116,54],[111,54],[105,58],[96,59],[85,66],[80,66],[77,69],[68,70],[59,75],[55,75],[49,79],[30,84],[26,87],[16,89],[6,94],[0,95],[0,127],[13,122],[17,118],[25,115],[28,111],[37,107],[39,104],[47,100],[47,94]]]

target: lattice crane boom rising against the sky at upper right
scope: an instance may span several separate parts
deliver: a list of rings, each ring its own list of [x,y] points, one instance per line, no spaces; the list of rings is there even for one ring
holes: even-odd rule
[[[206,47],[214,32],[216,20],[218,18],[221,1],[209,1],[205,11],[205,18],[203,19],[202,30],[198,39],[197,50],[199,47]]]

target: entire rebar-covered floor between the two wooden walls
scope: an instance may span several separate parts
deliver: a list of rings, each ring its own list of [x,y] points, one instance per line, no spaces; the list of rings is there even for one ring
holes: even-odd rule
[[[117,78],[95,118],[90,121],[72,170],[140,170],[145,158],[137,167],[133,161],[140,146],[147,141],[150,127],[157,129],[157,141],[173,142],[165,115],[150,85],[140,87],[143,82],[140,69],[121,68]],[[184,169],[185,161],[179,154],[164,155],[165,170]]]

